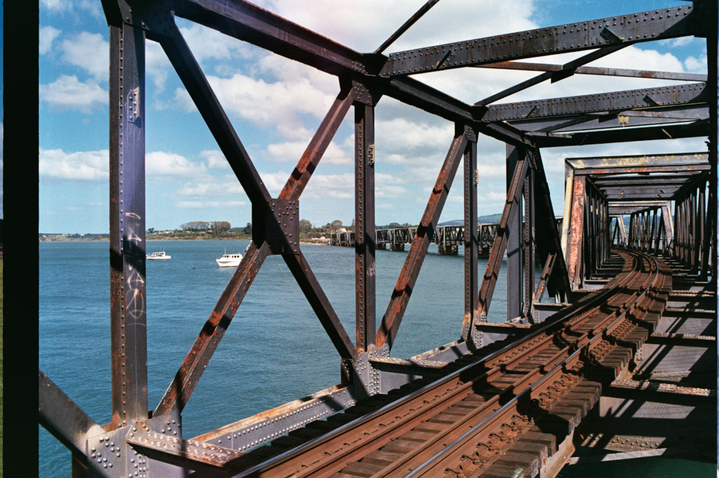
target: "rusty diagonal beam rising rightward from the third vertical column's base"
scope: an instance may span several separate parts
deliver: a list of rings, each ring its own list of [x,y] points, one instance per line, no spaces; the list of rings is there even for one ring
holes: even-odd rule
[[[495,233],[495,240],[492,245],[492,252],[490,258],[487,261],[487,268],[485,269],[485,275],[482,277],[482,285],[477,297],[477,315],[480,317],[482,322],[487,321],[487,313],[490,309],[492,302],[492,294],[497,284],[499,277],[499,271],[502,266],[502,256],[507,248],[507,228],[508,222],[512,220],[515,215],[518,215],[518,202],[522,194],[522,184],[524,177],[527,174],[529,161],[522,157],[517,161],[514,168],[514,174],[510,187],[507,191],[507,200],[504,203],[502,211],[502,219],[497,226],[497,232]]]

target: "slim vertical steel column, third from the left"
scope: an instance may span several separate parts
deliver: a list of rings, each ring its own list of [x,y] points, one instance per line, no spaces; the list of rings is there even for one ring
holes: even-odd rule
[[[472,128],[464,128],[467,136],[467,148],[464,149],[464,321],[462,323],[462,338],[468,339],[471,327],[475,322],[474,314],[478,301],[478,273],[477,255],[479,240],[477,238],[477,184],[480,182],[480,172],[477,169],[477,134]],[[455,132],[455,136],[459,131]]]

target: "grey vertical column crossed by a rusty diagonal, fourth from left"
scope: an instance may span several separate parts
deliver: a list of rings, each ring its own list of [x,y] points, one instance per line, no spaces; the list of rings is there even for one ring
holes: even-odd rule
[[[507,191],[509,191],[511,187],[514,169],[520,159],[526,160],[526,152],[518,146],[507,144]],[[507,222],[508,320],[521,317],[522,315],[522,215],[519,208],[520,198],[521,195],[518,195],[512,205],[512,208],[517,211],[517,214],[511,217],[511,220]]]

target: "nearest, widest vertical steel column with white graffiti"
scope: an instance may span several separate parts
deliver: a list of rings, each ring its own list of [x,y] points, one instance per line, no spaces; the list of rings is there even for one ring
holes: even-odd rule
[[[112,425],[147,418],[145,33],[110,27]]]

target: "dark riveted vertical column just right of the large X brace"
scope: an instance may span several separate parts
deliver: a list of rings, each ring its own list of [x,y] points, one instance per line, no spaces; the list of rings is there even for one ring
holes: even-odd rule
[[[354,103],[354,267],[357,352],[375,348],[375,107],[364,86]],[[360,99],[365,98],[364,102]]]

